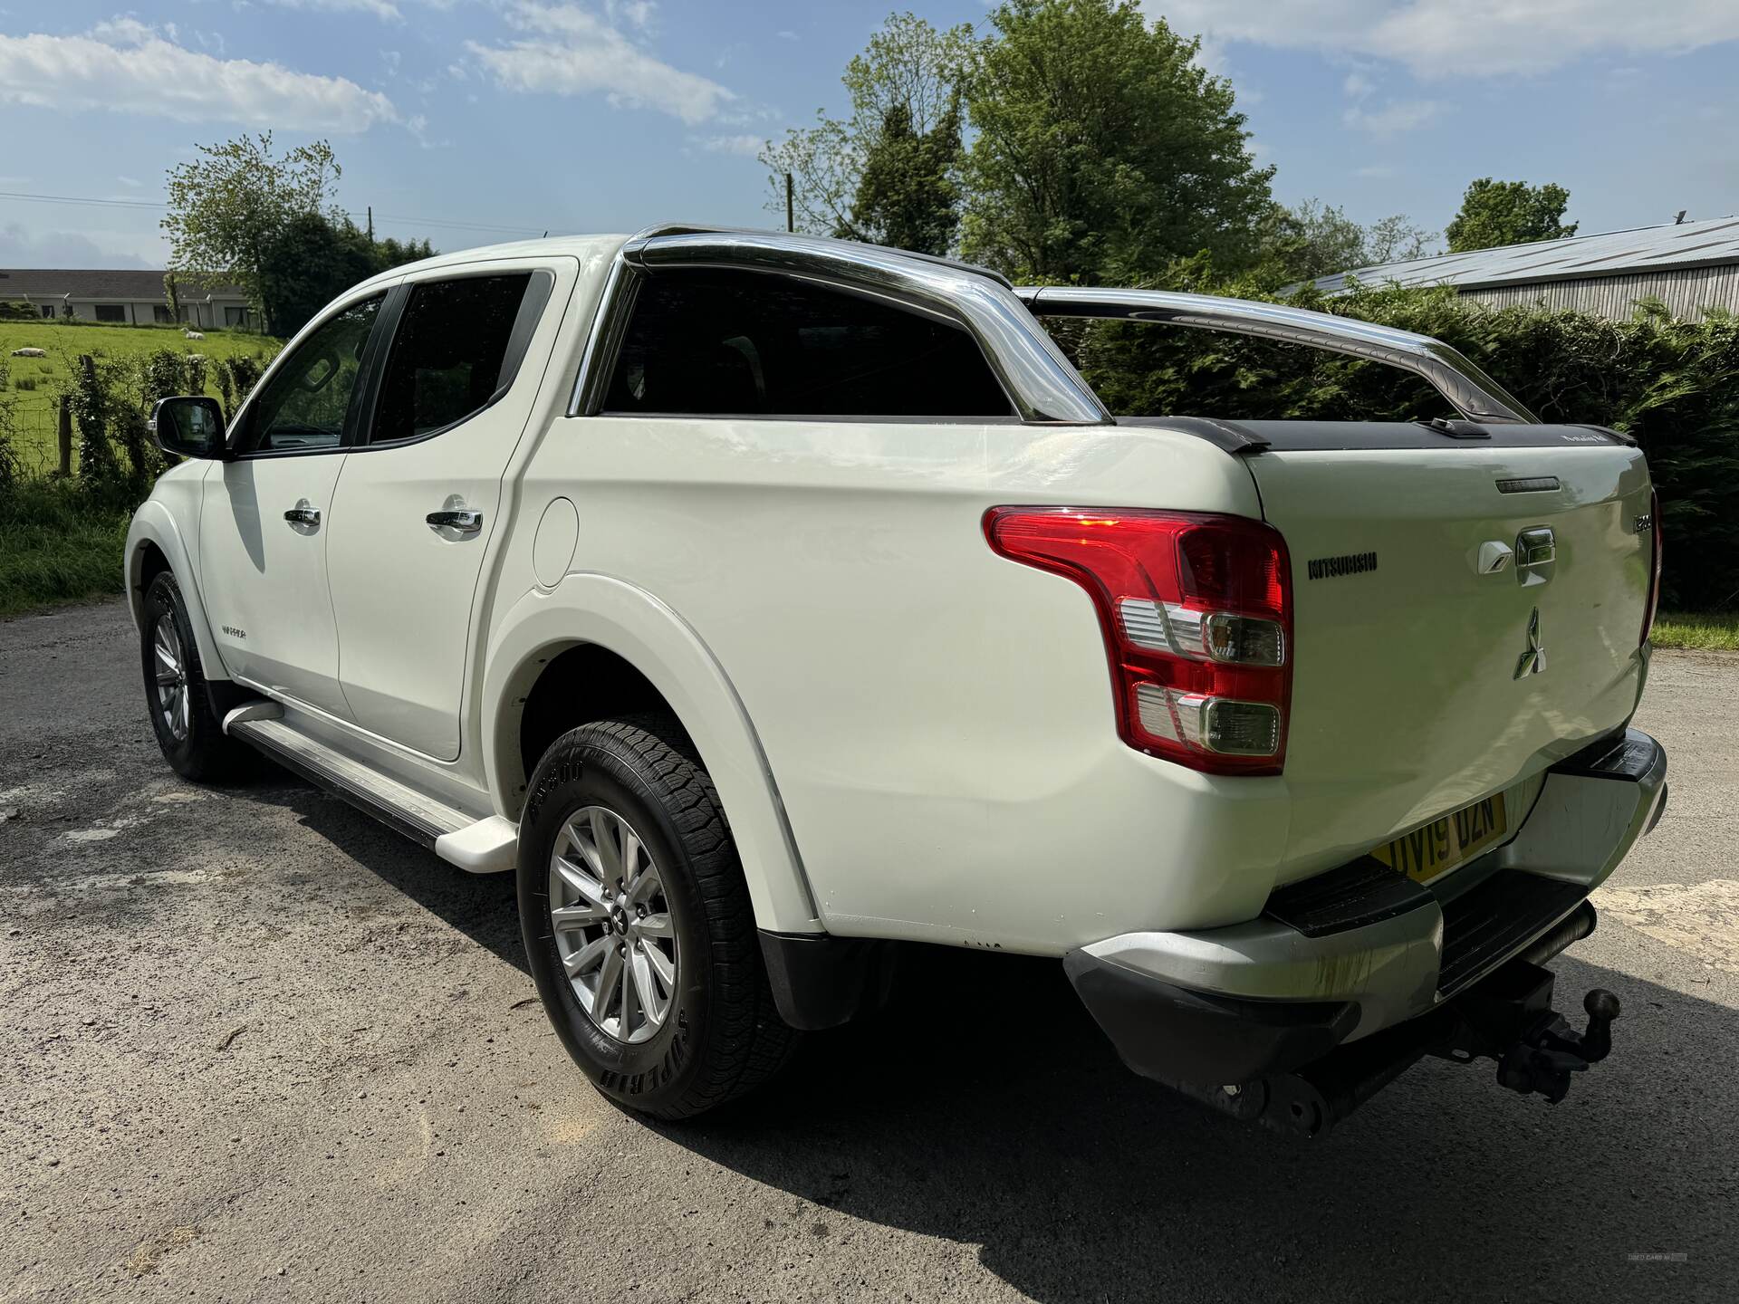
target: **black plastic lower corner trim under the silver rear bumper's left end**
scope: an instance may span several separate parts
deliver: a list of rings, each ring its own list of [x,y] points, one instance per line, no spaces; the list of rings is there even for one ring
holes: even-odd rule
[[[1263,1001],[1189,991],[1087,951],[1063,972],[1122,1061],[1165,1083],[1243,1083],[1322,1059],[1358,1024],[1356,1001]]]

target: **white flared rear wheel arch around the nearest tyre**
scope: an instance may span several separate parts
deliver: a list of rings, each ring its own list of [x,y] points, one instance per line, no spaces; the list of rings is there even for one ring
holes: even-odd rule
[[[576,661],[593,669],[609,666],[619,692],[610,695],[605,685],[576,701],[562,687],[576,683]],[[553,741],[586,723],[579,715],[607,718],[668,709],[718,789],[756,925],[779,932],[821,930],[760,737],[723,668],[675,610],[621,579],[570,574],[555,589],[527,593],[508,609],[490,636],[485,664],[483,770],[503,815],[516,821],[523,805],[525,781],[536,765],[525,755],[529,739]],[[558,676],[553,690],[550,675]],[[527,708],[539,718],[527,720]]]

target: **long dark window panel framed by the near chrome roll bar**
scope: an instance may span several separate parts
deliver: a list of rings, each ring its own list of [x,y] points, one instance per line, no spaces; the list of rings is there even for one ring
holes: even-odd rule
[[[659,271],[635,297],[609,412],[1007,417],[965,329],[763,271]]]

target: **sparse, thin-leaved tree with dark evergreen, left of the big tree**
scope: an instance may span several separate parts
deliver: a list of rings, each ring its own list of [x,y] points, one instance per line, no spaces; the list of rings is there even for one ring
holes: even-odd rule
[[[960,188],[960,90],[972,28],[937,31],[892,14],[840,78],[849,118],[816,111],[816,125],[767,141],[760,162],[784,214],[793,179],[796,230],[939,254],[953,242]]]

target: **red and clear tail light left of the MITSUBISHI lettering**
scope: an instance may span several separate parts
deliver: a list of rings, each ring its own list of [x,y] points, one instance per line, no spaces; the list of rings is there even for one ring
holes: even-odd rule
[[[1292,702],[1292,567],[1243,516],[991,508],[1002,556],[1092,595],[1116,730],[1209,774],[1280,774]]]

